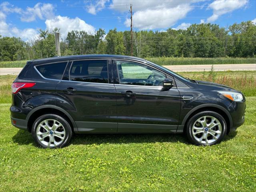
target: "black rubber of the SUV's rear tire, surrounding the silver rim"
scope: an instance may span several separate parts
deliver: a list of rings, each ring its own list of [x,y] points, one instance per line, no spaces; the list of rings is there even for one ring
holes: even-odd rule
[[[57,120],[58,122],[60,122],[63,125],[61,127],[62,130],[63,129],[65,130],[65,136],[63,136],[64,140],[60,141],[61,143],[56,146],[47,146],[47,145],[43,144],[42,142],[40,142],[38,139],[36,129],[42,121],[47,120],[47,119]],[[65,118],[63,118],[62,116],[59,116],[56,114],[45,114],[45,115],[38,117],[34,121],[34,124],[32,126],[32,137],[34,138],[34,140],[38,144],[38,146],[40,146],[42,148],[62,148],[70,142],[70,140],[72,138],[72,128],[71,128],[70,124],[68,123],[68,121]]]

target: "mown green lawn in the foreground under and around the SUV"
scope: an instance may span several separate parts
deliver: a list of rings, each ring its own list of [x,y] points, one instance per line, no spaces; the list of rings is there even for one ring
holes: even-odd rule
[[[0,191],[253,192],[255,102],[247,98],[245,124],[215,146],[182,134],[87,134],[57,150],[36,147],[0,104]]]

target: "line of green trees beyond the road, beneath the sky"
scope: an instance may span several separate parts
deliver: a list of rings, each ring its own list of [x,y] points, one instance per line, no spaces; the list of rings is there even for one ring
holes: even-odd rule
[[[30,60],[55,56],[54,32],[40,30],[38,38],[24,42],[20,38],[0,37],[1,60]],[[192,24],[186,30],[118,32],[102,29],[95,34],[72,30],[60,42],[62,55],[131,54],[145,57],[255,57],[256,25],[251,21],[228,28],[216,24]]]

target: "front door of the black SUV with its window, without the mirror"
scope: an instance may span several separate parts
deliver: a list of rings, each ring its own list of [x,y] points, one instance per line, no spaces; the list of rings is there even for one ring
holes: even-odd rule
[[[118,132],[176,132],[180,93],[174,79],[132,60],[114,60],[113,69]],[[162,88],[165,78],[173,80],[169,90]]]

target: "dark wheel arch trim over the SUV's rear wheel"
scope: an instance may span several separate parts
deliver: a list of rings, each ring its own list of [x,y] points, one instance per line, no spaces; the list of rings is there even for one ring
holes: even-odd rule
[[[77,128],[72,116],[70,116],[70,114],[68,114],[66,110],[54,105],[44,105],[44,106],[39,106],[32,109],[26,117],[26,120],[28,121],[28,131],[31,132],[32,125],[36,120],[36,118],[38,118],[43,114],[49,114],[49,113],[58,114],[66,118],[66,120],[70,123],[72,130],[76,132]]]

